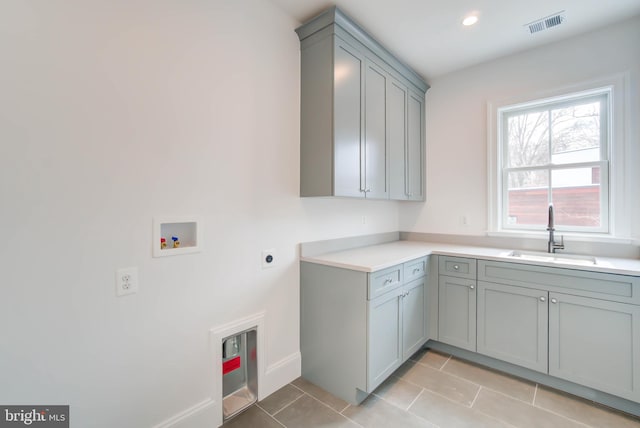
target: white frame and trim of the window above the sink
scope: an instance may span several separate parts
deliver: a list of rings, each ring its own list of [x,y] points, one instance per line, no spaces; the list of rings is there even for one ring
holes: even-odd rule
[[[629,194],[628,183],[631,183],[631,171],[633,166],[631,160],[627,161],[626,153],[632,153],[628,147],[629,122],[626,118],[626,112],[629,111],[627,103],[628,97],[625,97],[629,88],[629,74],[622,73],[597,81],[585,82],[570,87],[564,87],[547,91],[545,93],[534,93],[530,95],[522,95],[505,99],[499,102],[490,101],[487,103],[488,116],[488,231],[490,236],[546,236],[547,231],[544,227],[522,226],[514,227],[513,225],[503,224],[506,218],[505,212],[507,207],[503,206],[503,192],[506,188],[503,175],[504,153],[501,147],[502,112],[524,109],[527,106],[553,104],[562,100],[573,99],[577,97],[587,97],[595,94],[607,93],[608,96],[608,114],[609,127],[607,129],[608,141],[607,147],[601,147],[606,150],[606,167],[608,171],[601,170],[601,189],[606,191],[608,202],[602,205],[603,217],[602,228],[595,230],[588,228],[587,230],[580,228],[571,228],[571,230],[557,227],[558,231],[563,232],[567,236],[578,238],[580,240],[622,240],[630,241],[631,234],[631,215],[630,204],[625,203],[625,199],[631,197]],[[566,168],[569,165],[558,165],[559,168]],[[608,172],[608,173],[607,173]],[[608,180],[608,181],[607,181]],[[605,212],[606,211],[606,212]],[[537,230],[539,229],[539,230]]]

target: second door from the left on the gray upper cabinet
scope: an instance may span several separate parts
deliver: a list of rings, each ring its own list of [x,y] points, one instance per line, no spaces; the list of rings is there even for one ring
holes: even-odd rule
[[[364,96],[364,189],[367,198],[386,199],[387,185],[387,73],[366,63]]]

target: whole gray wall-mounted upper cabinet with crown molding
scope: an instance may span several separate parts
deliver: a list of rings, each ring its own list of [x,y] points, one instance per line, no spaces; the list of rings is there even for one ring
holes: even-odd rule
[[[428,85],[335,7],[296,32],[300,196],[424,200]]]

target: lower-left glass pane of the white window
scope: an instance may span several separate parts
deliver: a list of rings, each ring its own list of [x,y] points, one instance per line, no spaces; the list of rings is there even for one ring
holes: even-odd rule
[[[547,224],[549,174],[546,170],[508,173],[508,225]]]

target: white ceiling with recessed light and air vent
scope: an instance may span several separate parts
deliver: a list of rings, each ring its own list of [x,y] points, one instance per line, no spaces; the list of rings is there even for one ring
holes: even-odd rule
[[[337,5],[429,79],[640,15],[640,0],[271,0],[300,23]],[[564,10],[558,27],[526,24]],[[461,21],[470,12],[480,20]]]

